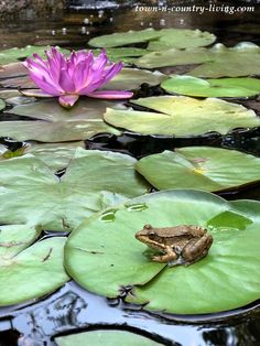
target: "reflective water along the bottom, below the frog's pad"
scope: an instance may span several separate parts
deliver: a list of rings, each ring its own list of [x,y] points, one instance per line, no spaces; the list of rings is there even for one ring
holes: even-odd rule
[[[50,298],[30,306],[12,311],[12,317],[0,321],[1,346],[53,346],[54,335],[69,334],[100,326],[120,329],[138,328],[164,345],[184,346],[257,346],[260,337],[260,310],[253,304],[247,314],[241,309],[236,317],[224,314],[223,322],[188,320],[188,316],[156,315],[140,306],[111,304],[105,298],[91,294],[74,282]],[[176,317],[176,318],[175,318]],[[177,321],[178,318],[178,321]],[[15,337],[14,337],[15,336]],[[12,343],[8,344],[8,340]]]

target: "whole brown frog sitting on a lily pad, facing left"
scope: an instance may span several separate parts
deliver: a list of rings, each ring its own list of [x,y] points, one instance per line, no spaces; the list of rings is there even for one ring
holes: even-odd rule
[[[192,264],[208,252],[213,244],[213,237],[207,229],[199,226],[175,226],[153,228],[145,225],[136,234],[136,238],[155,250],[164,252],[162,256],[153,256],[156,262],[174,264]]]

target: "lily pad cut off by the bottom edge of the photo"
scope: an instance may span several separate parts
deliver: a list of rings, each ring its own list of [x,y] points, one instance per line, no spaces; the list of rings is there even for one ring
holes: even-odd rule
[[[58,346],[155,346],[162,345],[161,343],[155,343],[152,339],[149,339],[144,336],[139,334],[123,332],[123,331],[108,331],[108,329],[100,329],[100,331],[90,331],[85,333],[78,333],[67,336],[59,336],[55,338],[55,343]]]

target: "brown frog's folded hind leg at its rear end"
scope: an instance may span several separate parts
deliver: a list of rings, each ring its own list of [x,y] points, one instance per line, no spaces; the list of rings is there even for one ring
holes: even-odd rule
[[[213,237],[208,234],[205,234],[202,238],[193,239],[182,250],[182,257],[186,261],[186,264],[192,264],[208,252],[213,244]]]

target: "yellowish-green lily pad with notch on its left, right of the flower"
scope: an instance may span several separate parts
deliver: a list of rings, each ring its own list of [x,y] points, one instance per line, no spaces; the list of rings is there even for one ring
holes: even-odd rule
[[[252,110],[216,98],[205,100],[185,96],[147,97],[132,104],[155,110],[136,111],[108,108],[105,120],[118,128],[142,134],[197,136],[209,131],[221,134],[235,128],[260,126]]]

